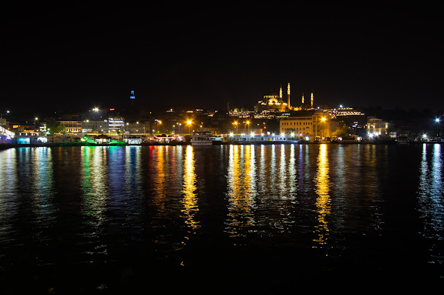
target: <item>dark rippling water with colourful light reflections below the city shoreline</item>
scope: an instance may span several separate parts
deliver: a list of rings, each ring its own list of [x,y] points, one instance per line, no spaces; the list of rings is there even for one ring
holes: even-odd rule
[[[0,293],[443,284],[443,149],[3,150]]]

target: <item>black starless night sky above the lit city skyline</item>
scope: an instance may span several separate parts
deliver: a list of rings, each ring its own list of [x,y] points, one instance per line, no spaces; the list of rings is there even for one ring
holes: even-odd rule
[[[153,109],[253,108],[287,82],[292,105],[314,92],[330,107],[444,109],[438,7],[14,6],[1,12],[12,110],[125,107],[130,90]]]

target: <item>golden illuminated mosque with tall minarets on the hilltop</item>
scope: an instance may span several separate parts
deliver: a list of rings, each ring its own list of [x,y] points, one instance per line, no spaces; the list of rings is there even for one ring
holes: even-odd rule
[[[282,100],[282,84],[280,85],[279,95],[271,93],[264,96],[262,100],[255,105],[256,112],[271,111],[271,112],[284,112],[284,111],[300,111],[301,109],[313,109],[313,92],[311,92],[310,104],[305,103],[304,94],[302,93],[302,101],[300,107],[291,106],[290,101],[290,82],[287,86],[287,102]]]

